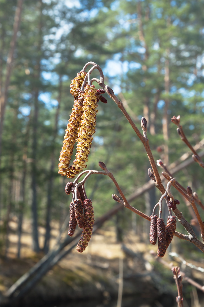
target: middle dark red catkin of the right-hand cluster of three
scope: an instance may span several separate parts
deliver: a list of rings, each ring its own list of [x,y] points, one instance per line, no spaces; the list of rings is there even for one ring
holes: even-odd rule
[[[164,220],[161,218],[157,219],[157,238],[158,238],[157,256],[164,257],[166,253],[166,227],[164,224]]]

